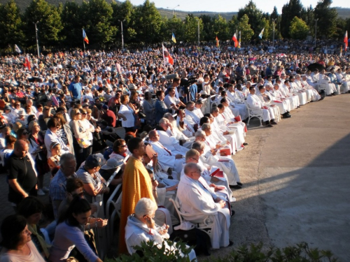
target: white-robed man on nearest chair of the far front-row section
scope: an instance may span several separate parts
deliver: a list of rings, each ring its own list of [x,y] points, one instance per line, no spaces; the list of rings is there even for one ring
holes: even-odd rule
[[[274,110],[272,108],[267,108],[267,106],[262,103],[262,101],[255,94],[255,87],[250,87],[249,92],[251,94],[248,95],[248,99],[246,99],[246,103],[248,103],[249,108],[253,110],[253,112],[258,112],[258,110],[262,110],[262,120],[265,122],[267,127],[273,127],[272,124],[277,124],[274,119]]]

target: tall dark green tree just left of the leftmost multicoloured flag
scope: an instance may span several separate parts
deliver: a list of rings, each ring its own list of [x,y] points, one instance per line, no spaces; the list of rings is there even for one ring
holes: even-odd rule
[[[75,1],[66,1],[62,6],[61,20],[63,30],[61,31],[65,47],[83,48],[82,17],[80,17],[80,6]]]

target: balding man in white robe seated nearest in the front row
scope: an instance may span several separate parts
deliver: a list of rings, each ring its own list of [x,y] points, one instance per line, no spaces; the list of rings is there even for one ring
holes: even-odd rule
[[[229,239],[230,210],[226,202],[211,194],[199,181],[201,171],[196,163],[186,163],[184,172],[177,194],[181,212],[186,213],[183,218],[192,223],[201,223],[208,217],[213,221],[211,247],[219,249],[233,245]]]

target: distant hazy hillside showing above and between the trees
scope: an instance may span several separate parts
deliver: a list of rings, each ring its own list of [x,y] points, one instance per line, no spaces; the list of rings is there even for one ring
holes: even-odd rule
[[[8,0],[0,0],[0,3],[6,3]],[[24,12],[25,8],[29,5],[29,2],[31,0],[15,0],[15,2],[18,4],[20,7],[20,10]],[[48,3],[51,3],[55,6],[58,6],[59,3],[64,3],[67,0],[46,0]],[[76,0],[76,3],[82,3],[83,0]],[[111,2],[111,0],[107,0],[108,2]],[[118,2],[118,1],[117,1]],[[341,7],[336,7],[337,12],[339,17],[342,18],[350,18],[350,8],[341,8]],[[166,16],[166,17],[172,17],[173,11],[170,9],[166,8],[158,8],[160,11],[160,15]],[[175,10],[175,15],[181,19],[185,19],[185,17],[189,14],[192,13],[195,16],[200,16],[200,15],[209,15],[211,17],[215,15],[221,15],[224,17],[226,20],[230,20],[232,18],[232,15],[237,15],[237,12],[227,12],[227,13],[214,13],[214,12],[207,12],[207,11],[197,11],[197,12],[186,12],[186,11],[179,11]]]

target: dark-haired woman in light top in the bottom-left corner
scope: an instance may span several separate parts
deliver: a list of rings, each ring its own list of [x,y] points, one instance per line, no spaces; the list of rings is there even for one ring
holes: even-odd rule
[[[31,241],[27,220],[18,214],[11,214],[1,224],[3,251],[0,261],[45,262]]]

